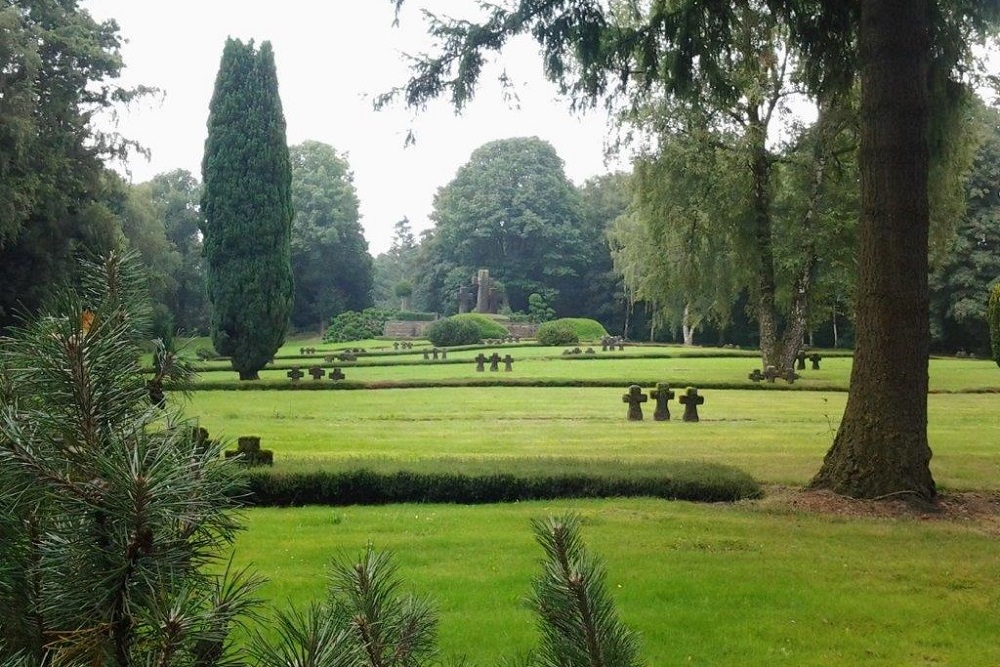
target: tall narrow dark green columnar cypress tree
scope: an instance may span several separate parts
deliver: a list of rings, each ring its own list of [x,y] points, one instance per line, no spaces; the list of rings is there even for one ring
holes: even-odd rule
[[[269,42],[226,40],[202,180],[212,343],[256,380],[284,342],[293,296],[291,163]]]

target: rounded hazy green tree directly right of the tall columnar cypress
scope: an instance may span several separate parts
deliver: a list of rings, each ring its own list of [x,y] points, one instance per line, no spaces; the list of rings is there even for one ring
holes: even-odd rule
[[[347,157],[318,141],[292,146],[290,156],[292,326],[306,331],[346,310],[371,306],[372,258]]]

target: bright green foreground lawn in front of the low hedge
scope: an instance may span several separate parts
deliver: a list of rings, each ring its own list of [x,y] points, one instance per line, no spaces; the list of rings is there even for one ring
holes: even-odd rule
[[[371,541],[441,612],[441,646],[493,665],[536,641],[529,521],[574,511],[646,664],[1000,664],[1000,540],[973,523],[843,519],[766,501],[646,499],[247,512],[237,564],[279,605],[321,599]]]

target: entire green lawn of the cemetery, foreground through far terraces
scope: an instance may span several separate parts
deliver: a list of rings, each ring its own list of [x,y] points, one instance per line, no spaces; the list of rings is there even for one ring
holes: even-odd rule
[[[626,350],[613,359],[566,360],[523,347],[512,375],[634,377],[680,388],[688,373],[732,381],[756,362],[673,348]],[[656,353],[672,356],[642,358]],[[847,397],[850,359],[828,358],[822,366],[804,371],[790,391],[762,391],[749,381],[745,390],[705,389],[697,424],[679,420],[676,401],[668,423],[651,419],[651,403],[645,421],[626,421],[624,383],[194,391],[186,412],[213,436],[260,435],[279,470],[655,474],[673,462],[704,461],[794,487],[819,468]],[[346,372],[384,379],[483,375],[473,363],[433,362]],[[814,390],[803,391],[810,382]],[[819,390],[822,382],[836,390]],[[931,384],[939,392],[928,400],[939,488],[1000,493],[1000,397],[992,393],[1000,391],[1000,372],[992,362],[935,359]],[[396,554],[416,592],[438,601],[443,650],[492,665],[535,641],[522,604],[540,559],[529,521],[567,510],[584,517],[584,538],[605,559],[619,610],[640,631],[651,666],[1000,664],[995,521],[845,518],[793,511],[768,497],[721,505],[608,499],[255,509],[246,512],[248,530],[235,553],[238,563],[253,563],[271,579],[268,599],[303,604],[323,596],[335,555],[358,554],[371,540]]]

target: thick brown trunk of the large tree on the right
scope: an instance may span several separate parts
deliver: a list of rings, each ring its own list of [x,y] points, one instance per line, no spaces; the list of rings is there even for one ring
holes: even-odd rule
[[[934,497],[927,444],[927,0],[861,3],[856,346],[840,430],[813,487]]]

